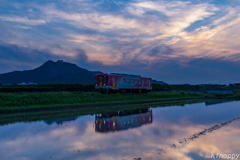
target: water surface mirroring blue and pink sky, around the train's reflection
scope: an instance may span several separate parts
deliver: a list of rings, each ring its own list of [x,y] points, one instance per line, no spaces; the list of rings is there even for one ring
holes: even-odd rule
[[[96,132],[95,116],[66,120],[62,125],[10,124],[0,127],[0,159],[190,160],[208,159],[211,153],[239,153],[240,121],[184,143],[184,138],[204,128],[240,116],[239,104],[153,108],[152,123],[120,132]]]

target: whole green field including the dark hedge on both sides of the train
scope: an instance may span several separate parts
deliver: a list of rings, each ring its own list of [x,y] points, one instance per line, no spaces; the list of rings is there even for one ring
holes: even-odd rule
[[[239,87],[212,86],[212,88],[234,89],[234,94],[188,92],[190,89],[203,89],[201,87],[191,85],[155,85],[153,86],[153,92],[147,94],[101,94],[93,92],[94,86],[92,85],[1,86],[0,111],[185,99],[240,99]]]

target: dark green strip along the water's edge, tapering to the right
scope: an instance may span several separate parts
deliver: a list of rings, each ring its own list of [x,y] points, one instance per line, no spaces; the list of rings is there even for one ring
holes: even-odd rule
[[[13,124],[17,122],[34,122],[41,120],[53,120],[63,119],[66,117],[79,117],[84,115],[105,114],[114,113],[117,111],[130,111],[145,108],[155,107],[169,107],[169,106],[184,106],[186,104],[202,102],[201,100],[183,100],[183,101],[171,101],[161,103],[147,103],[138,105],[116,105],[111,107],[97,107],[97,108],[78,108],[69,110],[58,111],[40,111],[40,112],[17,112],[0,114],[0,126]]]

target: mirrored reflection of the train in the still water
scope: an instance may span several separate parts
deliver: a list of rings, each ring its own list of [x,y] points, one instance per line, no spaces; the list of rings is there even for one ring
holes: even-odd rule
[[[119,111],[95,116],[95,131],[110,132],[140,127],[152,123],[152,110]]]

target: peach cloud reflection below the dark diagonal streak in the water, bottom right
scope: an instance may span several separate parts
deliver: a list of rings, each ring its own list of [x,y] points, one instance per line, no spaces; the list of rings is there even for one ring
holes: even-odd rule
[[[239,124],[240,122],[236,121],[216,132],[208,133],[206,136],[179,147],[178,152],[184,153],[186,156],[194,152],[204,158],[210,158],[211,153],[238,153],[240,143],[236,139],[240,133]]]

